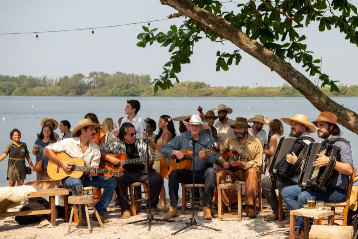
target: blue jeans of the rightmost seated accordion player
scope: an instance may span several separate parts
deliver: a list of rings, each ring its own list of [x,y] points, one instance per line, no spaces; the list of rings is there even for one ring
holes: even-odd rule
[[[303,208],[304,204],[307,204],[307,197],[314,196],[316,201],[324,202],[344,202],[347,190],[338,187],[328,187],[326,192],[302,190],[298,185],[284,187],[281,191],[282,199],[285,201],[288,209],[296,210]],[[297,228],[303,230],[303,217],[296,216]],[[310,225],[313,221],[310,220]]]

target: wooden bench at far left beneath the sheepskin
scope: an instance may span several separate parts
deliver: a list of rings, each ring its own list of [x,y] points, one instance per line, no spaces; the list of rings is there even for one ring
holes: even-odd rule
[[[49,209],[17,211],[17,212],[2,212],[2,213],[0,213],[0,217],[50,214],[51,224],[53,226],[56,226],[55,196],[59,196],[59,195],[68,195],[67,189],[66,188],[51,188],[51,189],[37,190],[36,192],[30,192],[28,195],[28,198],[49,197]]]

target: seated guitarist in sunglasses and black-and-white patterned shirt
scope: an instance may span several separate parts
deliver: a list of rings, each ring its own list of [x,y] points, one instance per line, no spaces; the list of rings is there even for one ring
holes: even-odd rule
[[[113,157],[118,153],[126,153],[129,159],[139,158],[146,156],[146,145],[143,140],[136,138],[136,130],[134,125],[125,122],[119,129],[118,138],[112,140],[106,144],[101,145],[102,159],[112,163],[113,165],[119,165],[120,160]],[[154,156],[154,151],[149,147],[149,154]],[[150,159],[150,164],[153,161]],[[127,188],[134,182],[148,183],[147,171],[145,171],[145,162],[130,163],[123,166],[125,172],[122,177],[117,177],[116,193],[119,196],[119,204],[123,209],[122,219],[128,219],[131,217],[131,206],[128,198]],[[159,193],[161,185],[163,183],[161,176],[156,173],[153,168],[149,168],[150,177],[150,206],[151,213],[158,214],[157,204],[159,201]]]

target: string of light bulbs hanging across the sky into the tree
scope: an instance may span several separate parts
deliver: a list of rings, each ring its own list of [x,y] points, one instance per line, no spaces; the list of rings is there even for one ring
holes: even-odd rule
[[[234,1],[224,1],[221,3],[236,3]],[[270,8],[271,6],[267,6],[265,8],[261,8],[260,10],[265,10],[267,8]],[[275,8],[275,5],[272,6],[273,8]],[[225,7],[224,7],[225,8]],[[225,8],[226,9],[226,8]],[[280,13],[283,13],[284,9],[280,6],[279,9]],[[252,12],[248,12],[248,13],[244,13],[244,14],[239,14],[239,15],[235,15],[235,16],[230,16],[230,17],[226,17],[224,18],[225,20],[227,20],[229,22],[229,24],[231,24],[231,20],[233,18],[239,17],[239,16],[243,16],[243,15],[252,15],[252,20],[256,20],[256,11],[252,11]],[[179,16],[177,18],[184,18],[185,16]],[[125,23],[125,24],[117,24],[117,25],[109,25],[109,26],[101,26],[101,27],[88,27],[88,28],[76,28],[76,29],[62,29],[62,30],[50,30],[50,31],[33,31],[33,32],[13,32],[13,33],[0,33],[0,35],[19,35],[19,34],[36,34],[36,39],[39,39],[39,33],[55,33],[55,32],[73,32],[73,31],[82,31],[82,30],[92,30],[91,34],[95,35],[95,31],[94,29],[103,29],[103,28],[113,28],[113,27],[123,27],[123,26],[128,26],[128,25],[137,25],[137,24],[145,24],[147,23],[147,27],[150,28],[150,23],[154,23],[157,21],[165,21],[165,20],[171,20],[173,18],[163,18],[163,19],[156,19],[156,20],[149,20],[149,21],[139,21],[139,22],[133,22],[133,23]],[[210,24],[211,26],[212,24]],[[193,27],[196,27],[196,24],[193,24]]]

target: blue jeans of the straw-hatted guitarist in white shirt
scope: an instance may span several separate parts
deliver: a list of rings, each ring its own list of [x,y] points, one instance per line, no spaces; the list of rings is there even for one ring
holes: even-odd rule
[[[86,174],[83,179],[68,177],[63,182],[64,188],[71,188],[72,195],[77,195],[76,186],[83,185],[83,187],[99,187],[104,188],[102,193],[102,198],[96,204],[96,210],[98,214],[104,216],[107,211],[107,207],[111,202],[113,192],[117,187],[117,180],[110,177],[96,176],[92,177],[89,174]],[[77,208],[78,211],[78,208]],[[86,213],[84,211],[84,205],[82,205],[82,217],[85,217]]]

